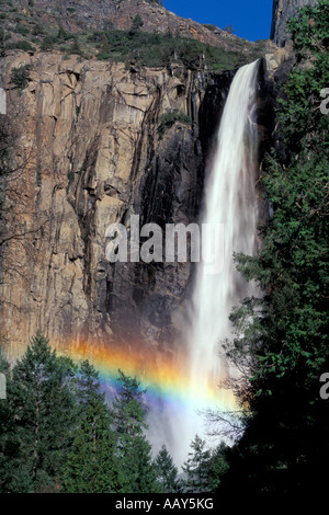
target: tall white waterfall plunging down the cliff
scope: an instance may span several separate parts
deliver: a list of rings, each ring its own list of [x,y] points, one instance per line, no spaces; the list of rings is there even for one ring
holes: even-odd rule
[[[214,244],[211,230],[203,248],[222,263],[214,270],[202,260],[196,265],[195,286],[190,304],[191,325],[188,331],[190,353],[191,412],[211,408],[209,391],[220,398],[217,387],[227,375],[220,363],[220,343],[231,336],[229,314],[241,299],[252,295],[256,286],[237,272],[234,252],[252,255],[256,250],[257,199],[254,192],[258,133],[254,121],[258,61],[240,68],[231,83],[217,135],[217,148],[205,184],[201,222],[214,228],[223,225],[223,244]],[[202,226],[204,228],[204,226]],[[218,238],[218,237],[217,237]],[[215,247],[215,251],[212,250]],[[217,248],[216,248],[217,247]],[[186,421],[185,439],[195,433],[203,436],[200,415]]]

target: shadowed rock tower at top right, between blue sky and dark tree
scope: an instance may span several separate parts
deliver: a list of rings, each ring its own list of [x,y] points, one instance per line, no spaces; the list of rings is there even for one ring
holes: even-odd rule
[[[318,0],[273,0],[273,18],[271,27],[271,39],[277,46],[284,46],[290,34],[286,30],[286,22],[297,14],[297,10],[305,5],[316,5]]]

